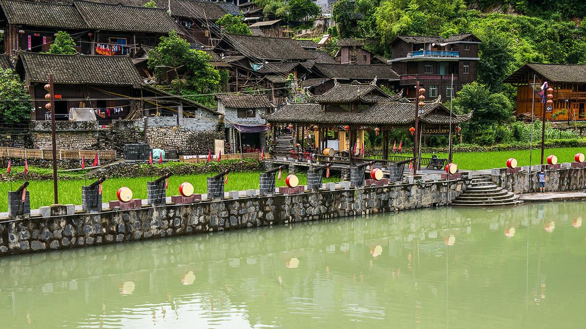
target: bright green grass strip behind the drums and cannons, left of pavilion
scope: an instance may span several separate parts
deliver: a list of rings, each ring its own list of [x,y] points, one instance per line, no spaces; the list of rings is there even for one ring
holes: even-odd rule
[[[241,191],[258,189],[258,174],[254,172],[230,173],[228,182],[224,187],[226,191]],[[171,176],[169,179],[169,189],[167,196],[179,195],[179,185],[185,181],[193,184],[195,193],[206,193],[206,174],[197,175],[183,175]],[[305,173],[297,174],[299,177],[299,184],[305,185],[307,183],[307,176]],[[282,180],[277,180],[277,187],[285,186],[285,177],[287,172],[282,173]],[[134,198],[147,198],[147,181],[153,180],[152,177],[138,177],[138,178],[117,178],[108,179],[104,182],[102,188],[102,200],[104,202],[116,200],[116,191],[126,186],[132,190]],[[88,180],[90,184],[93,180]],[[324,183],[339,181],[339,177],[330,177],[323,179]],[[28,187],[30,191],[30,207],[38,208],[42,205],[50,205],[53,203],[53,181],[52,180],[31,180]],[[13,190],[18,189],[22,184],[22,180],[13,181]],[[84,184],[83,179],[75,180],[60,180],[59,181],[59,203],[61,204],[81,204],[81,186]],[[0,212],[8,211],[7,193],[10,190],[10,183],[0,183]]]

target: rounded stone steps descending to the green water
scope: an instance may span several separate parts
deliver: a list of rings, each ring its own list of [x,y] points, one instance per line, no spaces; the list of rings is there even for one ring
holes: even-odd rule
[[[473,176],[471,186],[452,201],[451,205],[473,207],[502,207],[517,205],[523,201],[519,196],[502,189],[488,175]]]

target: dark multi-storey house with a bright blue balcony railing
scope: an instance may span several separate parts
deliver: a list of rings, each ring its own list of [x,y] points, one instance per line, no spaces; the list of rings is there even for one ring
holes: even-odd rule
[[[415,97],[415,83],[420,82],[425,96],[451,97],[451,78],[454,74],[454,92],[462,85],[476,80],[478,44],[472,34],[440,36],[397,36],[391,41],[393,58],[389,60],[400,74],[400,85],[407,97]]]

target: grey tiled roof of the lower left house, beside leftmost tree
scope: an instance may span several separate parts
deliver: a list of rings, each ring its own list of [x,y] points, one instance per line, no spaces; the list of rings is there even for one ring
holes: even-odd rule
[[[22,64],[30,82],[46,82],[53,74],[55,83],[141,85],[142,78],[129,56],[57,55],[21,52]]]

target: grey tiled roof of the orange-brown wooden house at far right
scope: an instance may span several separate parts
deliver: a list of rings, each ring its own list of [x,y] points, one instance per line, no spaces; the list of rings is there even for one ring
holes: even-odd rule
[[[583,64],[543,64],[527,63],[515,71],[503,82],[529,83],[533,71],[551,82],[586,83],[586,65]]]

